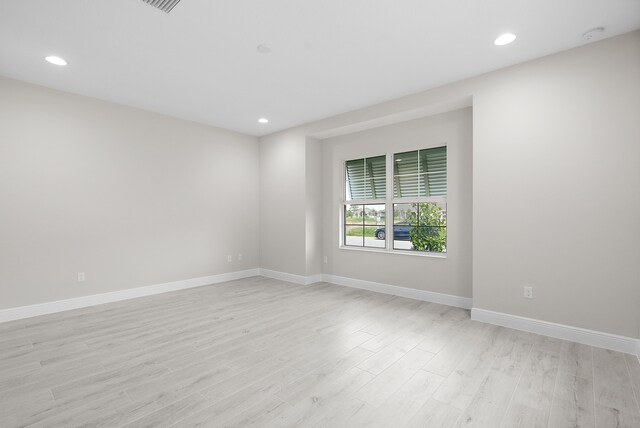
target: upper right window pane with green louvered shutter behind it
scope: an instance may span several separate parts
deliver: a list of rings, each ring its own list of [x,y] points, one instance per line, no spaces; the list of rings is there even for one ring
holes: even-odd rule
[[[396,153],[393,196],[416,198],[447,195],[447,147]]]

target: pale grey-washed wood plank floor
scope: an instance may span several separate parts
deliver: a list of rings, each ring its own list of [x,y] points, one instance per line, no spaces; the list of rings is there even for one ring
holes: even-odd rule
[[[0,427],[640,427],[635,356],[256,277],[0,324]]]

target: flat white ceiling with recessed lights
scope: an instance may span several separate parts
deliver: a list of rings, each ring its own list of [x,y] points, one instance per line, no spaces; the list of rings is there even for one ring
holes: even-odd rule
[[[0,75],[264,135],[579,46],[598,26],[640,28],[640,0],[182,0],[168,15],[2,0]],[[517,40],[494,46],[506,31]]]

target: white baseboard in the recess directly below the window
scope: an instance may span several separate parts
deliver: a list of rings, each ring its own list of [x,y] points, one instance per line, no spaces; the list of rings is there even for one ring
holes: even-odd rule
[[[376,293],[391,294],[394,296],[406,297],[408,299],[423,300],[425,302],[440,303],[442,305],[455,306],[457,308],[471,309],[472,306],[472,300],[469,297],[460,297],[451,294],[418,290],[415,288],[399,287],[397,285],[382,284],[379,282],[329,274],[323,274],[322,279],[324,282],[330,282],[331,284],[360,288],[363,290],[375,291]]]

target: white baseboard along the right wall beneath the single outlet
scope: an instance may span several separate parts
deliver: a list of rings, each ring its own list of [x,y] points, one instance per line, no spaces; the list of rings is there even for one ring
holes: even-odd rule
[[[640,355],[640,339],[618,336],[600,331],[587,330],[569,325],[556,324],[549,321],[540,321],[532,318],[509,315],[502,312],[488,311],[486,309],[471,309],[471,319],[488,324],[500,325],[515,330],[542,334],[558,339],[570,340],[598,348],[611,349],[627,354]]]

